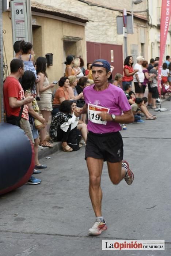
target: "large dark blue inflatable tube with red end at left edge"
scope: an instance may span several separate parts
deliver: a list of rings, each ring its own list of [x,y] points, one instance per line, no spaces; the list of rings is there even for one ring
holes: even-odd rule
[[[25,184],[34,166],[33,144],[24,131],[0,123],[0,195]]]

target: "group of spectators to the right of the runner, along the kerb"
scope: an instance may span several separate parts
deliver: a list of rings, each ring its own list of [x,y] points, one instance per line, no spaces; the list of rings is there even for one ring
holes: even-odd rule
[[[111,82],[125,91],[126,98],[132,107],[135,123],[144,123],[141,117],[146,120],[156,120],[156,115],[149,112],[157,108],[160,102],[157,80],[159,57],[151,59],[148,64],[142,56],[136,58],[137,63],[133,65],[133,57],[128,56],[124,61],[123,76],[116,74],[115,80]],[[132,91],[133,83],[135,92]],[[121,86],[122,84],[122,86]],[[148,98],[144,97],[145,90],[148,87]],[[166,61],[161,69],[161,94],[171,93],[171,58],[166,56]]]

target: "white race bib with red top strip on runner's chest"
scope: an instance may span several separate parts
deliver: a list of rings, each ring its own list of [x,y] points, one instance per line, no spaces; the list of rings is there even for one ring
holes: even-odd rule
[[[95,124],[104,124],[106,125],[107,121],[103,121],[98,115],[99,112],[106,111],[109,113],[109,108],[104,108],[102,106],[96,106],[88,103],[88,120]]]

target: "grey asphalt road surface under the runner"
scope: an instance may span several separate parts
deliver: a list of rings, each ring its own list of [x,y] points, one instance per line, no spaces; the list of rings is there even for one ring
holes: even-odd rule
[[[171,102],[163,107],[171,109]],[[153,112],[154,113],[154,112]],[[156,256],[171,255],[171,111],[155,121],[127,125],[122,131],[124,159],[135,179],[111,184],[102,173],[103,217],[108,229],[88,237],[95,221],[88,195],[88,171],[82,147],[42,159],[48,168],[24,185],[0,196],[1,256]],[[102,251],[102,240],[165,240],[165,251]]]

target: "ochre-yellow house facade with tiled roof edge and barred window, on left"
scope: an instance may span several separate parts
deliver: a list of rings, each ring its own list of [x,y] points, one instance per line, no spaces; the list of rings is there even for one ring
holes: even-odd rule
[[[47,68],[49,82],[64,75],[64,61],[68,54],[86,57],[85,26],[88,22],[83,15],[61,11],[39,3],[31,3],[33,49],[37,57],[53,54],[53,65]],[[8,67],[13,59],[12,24],[10,10],[3,13],[4,60]],[[4,69],[5,73],[5,69]]]

